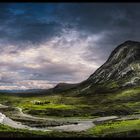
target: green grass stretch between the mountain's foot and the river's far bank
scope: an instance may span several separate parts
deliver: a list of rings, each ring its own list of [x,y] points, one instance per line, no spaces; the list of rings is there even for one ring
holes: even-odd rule
[[[140,112],[140,87],[124,89],[114,93],[96,93],[89,96],[46,95],[17,97],[0,95],[0,103],[21,107],[23,112],[36,116],[94,117],[128,115]],[[34,104],[37,100],[43,104]],[[47,102],[44,104],[44,102]]]

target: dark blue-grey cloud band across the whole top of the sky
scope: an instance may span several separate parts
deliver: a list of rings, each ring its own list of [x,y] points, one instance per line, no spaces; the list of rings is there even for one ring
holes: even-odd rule
[[[140,24],[139,4],[19,3],[1,4],[0,7],[3,26],[0,36],[10,42],[40,43],[59,35],[64,27],[87,34],[117,31],[120,35],[124,33],[127,39],[134,38],[130,34],[134,34]],[[121,38],[119,34],[117,37]]]

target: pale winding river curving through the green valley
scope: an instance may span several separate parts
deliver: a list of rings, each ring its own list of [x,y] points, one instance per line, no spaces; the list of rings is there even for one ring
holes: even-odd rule
[[[8,106],[4,106],[0,104],[0,108],[5,108]],[[96,126],[96,123],[100,122],[105,122],[109,120],[117,120],[119,117],[117,116],[107,116],[107,117],[99,117],[99,118],[94,118],[94,119],[85,119],[85,120],[80,120],[80,119],[65,119],[65,118],[60,118],[60,119],[54,119],[54,118],[40,118],[40,117],[35,117],[32,115],[28,115],[22,112],[22,109],[17,107],[19,115],[25,118],[30,118],[32,120],[34,119],[42,119],[42,120],[54,120],[54,121],[59,121],[59,120],[67,120],[70,122],[76,122],[76,124],[65,124],[65,125],[60,125],[60,126],[53,126],[53,127],[44,127],[44,128],[38,128],[38,127],[31,127],[28,125],[23,125],[21,122],[14,121],[10,119],[9,117],[5,116],[3,113],[0,112],[0,123],[4,125],[8,125],[13,128],[18,128],[18,129],[28,129],[28,130],[41,130],[41,131],[66,131],[66,132],[81,132],[81,131],[86,131],[87,129]],[[126,118],[128,119],[128,118]]]

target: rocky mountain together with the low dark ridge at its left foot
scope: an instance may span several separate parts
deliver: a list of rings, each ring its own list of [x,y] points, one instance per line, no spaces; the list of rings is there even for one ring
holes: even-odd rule
[[[53,93],[88,94],[140,85],[140,42],[125,41],[88,79],[78,84],[59,83]]]

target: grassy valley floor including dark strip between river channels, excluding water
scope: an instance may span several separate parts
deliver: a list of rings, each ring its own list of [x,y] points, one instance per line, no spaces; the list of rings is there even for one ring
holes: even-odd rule
[[[47,136],[47,137],[121,137],[139,136],[140,134],[140,87],[124,89],[114,93],[93,94],[90,96],[64,96],[48,95],[40,97],[18,97],[0,94],[0,103],[8,108],[0,108],[11,119],[38,127],[60,126],[70,122],[69,120],[88,120],[102,116],[125,117],[125,120],[112,120],[98,123],[96,126],[82,132],[40,132],[31,130],[19,130],[0,125],[1,136]],[[19,110],[35,117],[47,118],[47,122],[29,119],[27,116],[19,117]],[[137,116],[137,117],[135,117]],[[51,121],[60,119],[61,121]],[[63,121],[65,120],[65,121]],[[66,121],[67,120],[67,121]],[[45,125],[44,125],[45,124]]]

